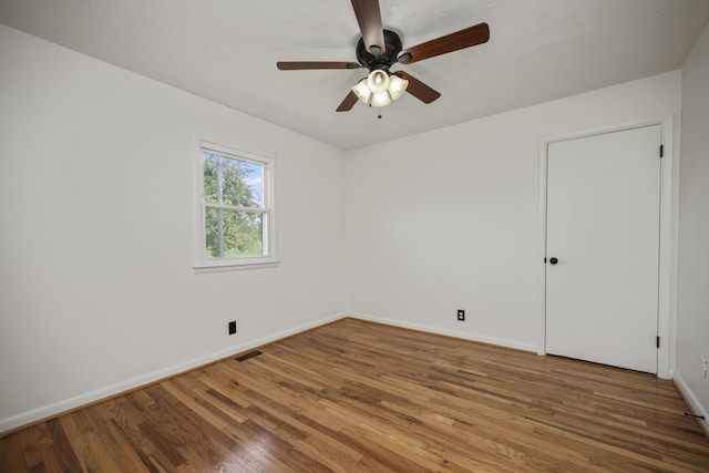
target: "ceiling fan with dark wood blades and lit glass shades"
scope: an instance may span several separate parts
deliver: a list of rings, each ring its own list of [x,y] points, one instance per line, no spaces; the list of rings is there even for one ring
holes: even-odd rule
[[[389,69],[397,62],[413,64],[424,59],[482,44],[490,39],[487,23],[480,23],[404,50],[399,35],[383,29],[379,0],[352,0],[352,8],[362,33],[357,43],[358,62],[280,61],[276,63],[281,71],[367,68],[369,74],[352,88],[337,107],[338,112],[351,110],[358,100],[370,105],[384,106],[392,100],[399,99],[404,92],[409,92],[424,103],[431,103],[441,96],[439,92],[407,72],[391,72]]]

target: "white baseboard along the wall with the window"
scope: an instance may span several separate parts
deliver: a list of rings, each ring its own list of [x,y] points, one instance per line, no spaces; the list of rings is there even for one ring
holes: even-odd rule
[[[48,418],[61,414],[62,412],[69,412],[82,405],[88,405],[96,401],[101,401],[102,399],[114,397],[122,392],[134,390],[142,385],[146,385],[155,381],[160,381],[161,379],[169,378],[175,374],[179,374],[185,371],[189,371],[195,368],[212,363],[214,361],[232,357],[236,353],[244,352],[251,348],[260,347],[260,346],[270,343],[273,341],[279,340],[281,338],[290,337],[291,335],[299,333],[301,331],[306,331],[306,330],[332,322],[335,320],[339,320],[343,317],[347,317],[347,315],[338,313],[335,316],[326,317],[323,319],[316,320],[310,323],[306,323],[302,326],[294,327],[288,330],[282,330],[282,331],[269,335],[268,337],[263,337],[256,340],[249,340],[249,341],[229,347],[224,350],[215,351],[213,353],[205,354],[204,357],[199,357],[184,363],[173,364],[172,367],[167,367],[162,370],[145,373],[136,378],[132,378],[115,384],[96,389],[94,391],[76,395],[74,398],[64,399],[49,405],[43,405],[41,408],[33,409],[31,411],[22,412],[6,419],[0,419],[0,434],[10,430],[20,428],[22,425],[28,425],[28,424],[41,421],[42,419],[48,419]]]

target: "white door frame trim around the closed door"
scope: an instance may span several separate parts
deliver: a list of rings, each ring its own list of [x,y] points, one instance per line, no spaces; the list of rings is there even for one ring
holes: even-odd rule
[[[679,172],[675,150],[675,116],[661,115],[613,125],[582,130],[540,140],[538,185],[538,240],[537,240],[537,353],[546,354],[546,191],[547,150],[551,143],[583,138],[605,133],[621,132],[643,126],[660,125],[664,155],[660,161],[660,244],[658,281],[657,335],[660,347],[657,352],[657,376],[671,379],[675,372],[675,327],[677,307],[677,215]],[[659,150],[658,150],[659,153]],[[658,157],[659,158],[659,157]]]

